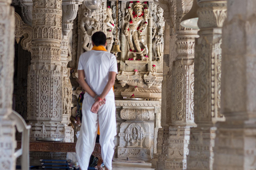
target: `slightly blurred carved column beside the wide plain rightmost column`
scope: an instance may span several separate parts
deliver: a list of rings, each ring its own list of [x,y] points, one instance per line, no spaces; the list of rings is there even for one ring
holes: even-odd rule
[[[225,121],[220,114],[222,24],[226,1],[197,1],[200,36],[195,55],[195,122],[192,128],[188,169],[212,169],[215,123]]]

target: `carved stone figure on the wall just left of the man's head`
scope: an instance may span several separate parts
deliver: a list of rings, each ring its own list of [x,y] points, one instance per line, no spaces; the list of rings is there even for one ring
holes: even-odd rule
[[[92,35],[94,32],[98,31],[98,21],[93,18],[94,13],[92,13],[90,10],[84,10],[83,12],[84,17],[81,20],[80,28],[83,31],[83,48],[86,51],[89,51],[92,49]]]

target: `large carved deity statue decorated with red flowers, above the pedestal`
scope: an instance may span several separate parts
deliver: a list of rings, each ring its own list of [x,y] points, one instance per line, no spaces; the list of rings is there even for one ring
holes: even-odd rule
[[[142,35],[143,31],[148,26],[148,11],[145,9],[143,11],[143,6],[140,2],[135,3],[134,11],[130,7],[128,8],[130,16],[126,15],[126,19],[130,19],[130,22],[125,26],[125,36],[128,40],[130,46],[130,52],[139,52],[141,57],[143,57],[142,49],[140,43],[145,47],[146,52],[148,52],[148,47],[146,44],[146,37]],[[134,45],[136,48],[134,48]],[[135,55],[135,54],[134,54]]]

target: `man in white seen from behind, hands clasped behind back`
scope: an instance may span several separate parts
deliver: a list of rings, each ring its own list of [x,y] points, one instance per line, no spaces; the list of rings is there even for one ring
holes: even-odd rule
[[[78,82],[85,90],[81,132],[76,143],[77,160],[87,170],[100,126],[101,155],[105,169],[112,169],[116,108],[113,86],[117,72],[116,57],[106,50],[103,32],[92,35],[93,48],[83,53],[78,63]],[[85,80],[84,80],[85,79]]]

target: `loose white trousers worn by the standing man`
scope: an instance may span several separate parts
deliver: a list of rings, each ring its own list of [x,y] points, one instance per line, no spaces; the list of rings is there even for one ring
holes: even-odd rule
[[[97,137],[98,123],[100,125],[101,156],[105,166],[112,169],[114,156],[114,137],[116,135],[115,100],[106,100],[97,114],[92,113],[94,99],[87,96],[82,105],[82,126],[76,143],[76,156],[82,170],[87,170]]]

